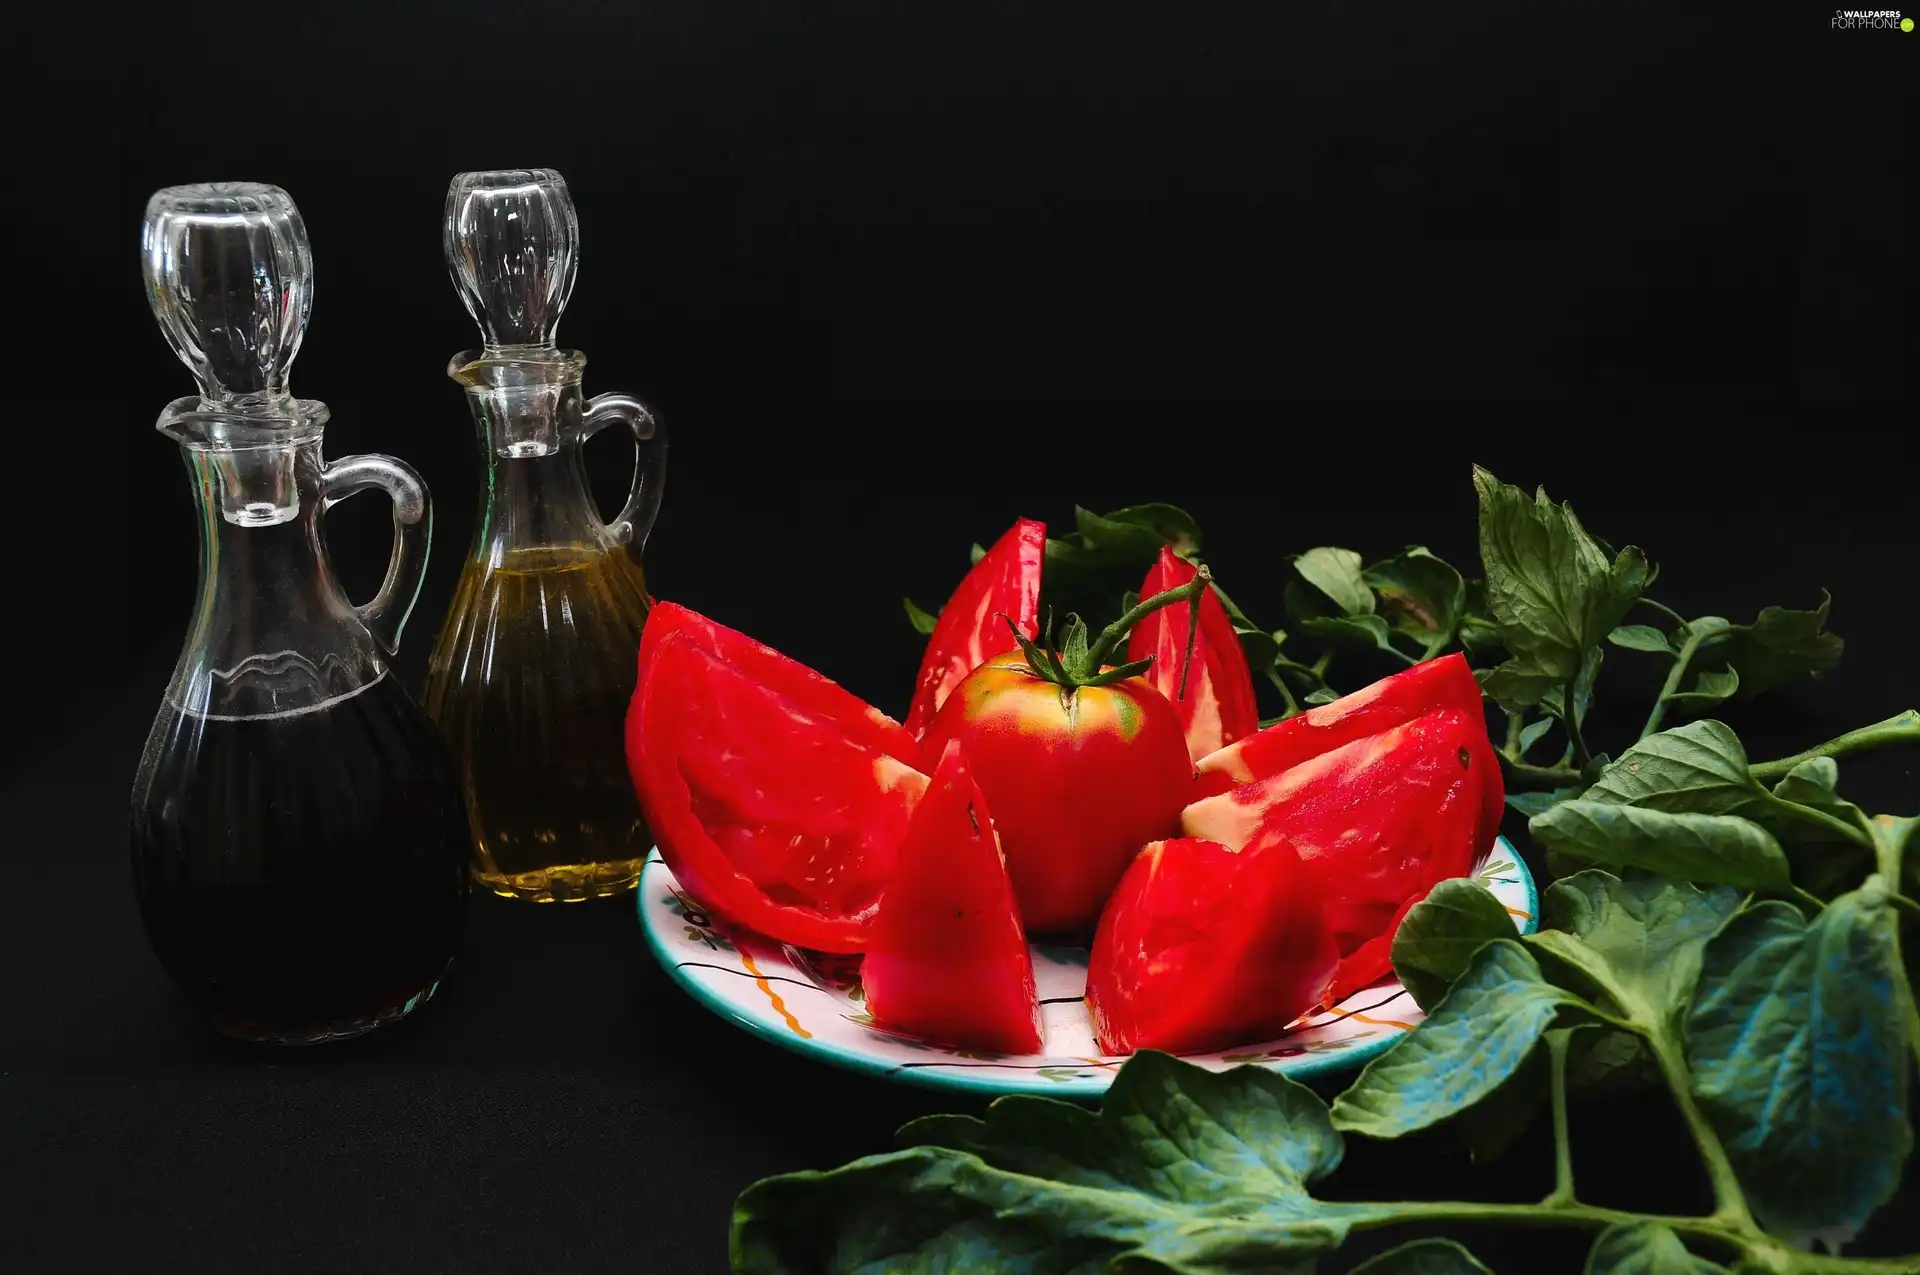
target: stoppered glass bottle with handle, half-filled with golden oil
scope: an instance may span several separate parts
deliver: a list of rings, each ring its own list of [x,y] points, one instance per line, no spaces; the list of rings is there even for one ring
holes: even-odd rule
[[[555,346],[580,223],[551,169],[461,173],[444,246],[484,346],[453,357],[480,438],[482,513],[440,641],[426,710],[453,749],[474,878],[507,899],[630,889],[649,837],[624,722],[660,507],[666,432],[624,394],[582,396],[586,357]],[[634,486],[603,520],[582,447],[634,434]]]

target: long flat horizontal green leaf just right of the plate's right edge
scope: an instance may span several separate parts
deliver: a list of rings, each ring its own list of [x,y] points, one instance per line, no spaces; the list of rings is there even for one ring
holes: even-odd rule
[[[1774,835],[1736,814],[1668,814],[1582,797],[1528,820],[1549,851],[1611,868],[1645,868],[1707,885],[1788,889]]]

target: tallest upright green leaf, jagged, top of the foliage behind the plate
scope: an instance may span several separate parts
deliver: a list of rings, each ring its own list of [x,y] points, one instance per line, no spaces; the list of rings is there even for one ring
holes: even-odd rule
[[[1478,465],[1473,484],[1486,601],[1515,655],[1511,676],[1567,682],[1640,597],[1647,559],[1626,547],[1609,563],[1572,507],[1555,505],[1544,488],[1528,499]]]

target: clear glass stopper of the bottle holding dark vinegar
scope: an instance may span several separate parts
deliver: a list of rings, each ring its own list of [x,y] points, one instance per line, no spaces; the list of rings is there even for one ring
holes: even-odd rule
[[[286,397],[286,371],[313,311],[313,248],[284,190],[202,182],[156,192],[140,269],[159,330],[202,397]]]

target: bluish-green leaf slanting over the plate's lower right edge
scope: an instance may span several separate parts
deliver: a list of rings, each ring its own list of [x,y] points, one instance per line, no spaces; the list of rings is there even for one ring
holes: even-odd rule
[[[1394,1139],[1463,1112],[1513,1075],[1557,1020],[1592,1014],[1515,939],[1488,943],[1427,1020],[1334,1098],[1336,1129]]]

